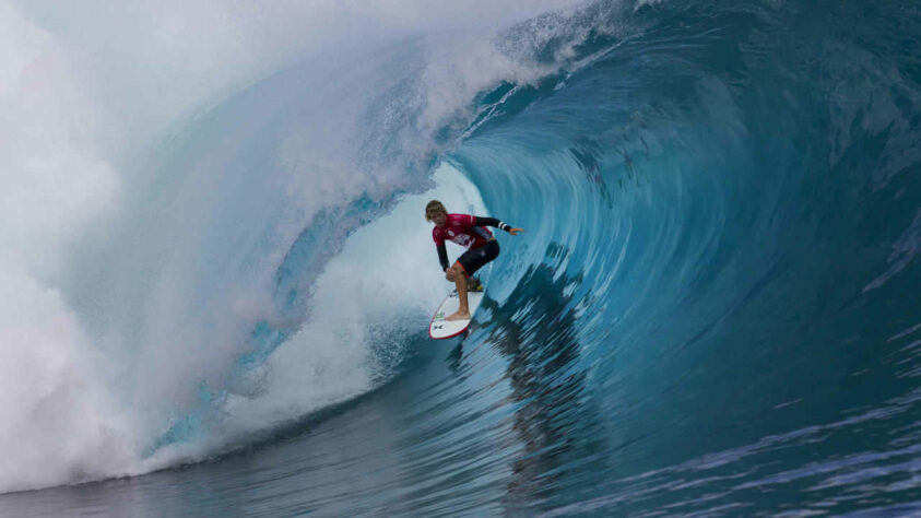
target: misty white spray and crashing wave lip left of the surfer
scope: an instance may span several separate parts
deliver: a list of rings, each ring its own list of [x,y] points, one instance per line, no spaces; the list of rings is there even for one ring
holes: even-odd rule
[[[0,488],[146,472],[226,446],[234,398],[264,391],[258,373],[302,340],[345,238],[433,186],[454,145],[440,128],[463,120],[477,91],[542,73],[493,35],[555,2],[476,3],[258,16],[222,2],[106,16],[0,7],[14,121],[0,279],[17,308],[2,338],[12,449]],[[380,378],[355,340],[305,365],[317,386],[352,382],[272,422]]]

